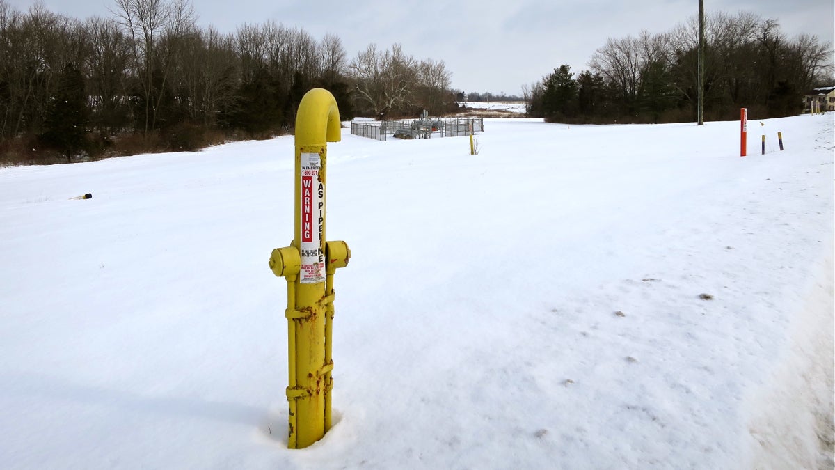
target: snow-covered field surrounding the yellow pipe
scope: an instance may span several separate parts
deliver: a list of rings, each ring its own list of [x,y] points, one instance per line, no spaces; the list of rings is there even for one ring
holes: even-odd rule
[[[0,467],[831,466],[832,114],[763,122],[343,129],[335,426],[294,451],[292,137],[0,168]]]

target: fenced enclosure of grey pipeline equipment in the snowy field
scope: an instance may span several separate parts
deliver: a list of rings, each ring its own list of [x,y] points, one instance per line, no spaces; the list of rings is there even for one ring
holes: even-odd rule
[[[471,130],[472,128],[472,130]],[[388,140],[390,136],[402,139],[428,139],[431,137],[458,137],[470,132],[483,132],[484,120],[480,117],[433,118],[413,120],[352,121],[351,134],[375,140]]]

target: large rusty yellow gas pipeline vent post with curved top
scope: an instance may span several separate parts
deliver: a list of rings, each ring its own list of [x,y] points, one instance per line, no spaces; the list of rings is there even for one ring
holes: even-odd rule
[[[325,242],[327,142],[341,140],[337,100],[311,89],[296,115],[294,238],[276,248],[270,268],[287,279],[287,355],[291,449],[310,446],[331,427],[333,276],[347,266],[345,242]]]

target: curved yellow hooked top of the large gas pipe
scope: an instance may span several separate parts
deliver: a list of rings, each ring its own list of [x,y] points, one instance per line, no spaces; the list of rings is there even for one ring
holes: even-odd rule
[[[342,140],[337,99],[331,92],[314,88],[299,103],[296,113],[296,146],[317,146]]]

